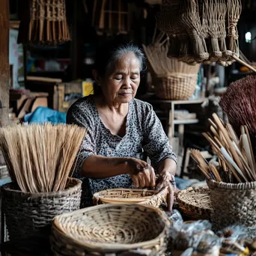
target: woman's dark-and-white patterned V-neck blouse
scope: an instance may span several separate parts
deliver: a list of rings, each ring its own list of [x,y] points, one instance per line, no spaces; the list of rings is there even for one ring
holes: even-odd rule
[[[67,112],[67,124],[77,124],[88,129],[81,150],[76,159],[73,174],[82,180],[82,207],[90,204],[92,195],[104,189],[133,188],[129,174],[121,174],[106,179],[91,179],[79,175],[83,162],[88,156],[134,157],[150,159],[150,164],[157,170],[164,159],[177,162],[172,152],[168,137],[162,124],[150,104],[141,100],[129,103],[127,131],[124,137],[112,135],[100,119],[93,97],[79,99]]]

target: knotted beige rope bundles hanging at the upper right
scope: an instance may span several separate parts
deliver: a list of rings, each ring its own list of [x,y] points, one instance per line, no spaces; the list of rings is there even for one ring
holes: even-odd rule
[[[222,66],[240,61],[237,22],[241,9],[241,0],[163,1],[157,25],[170,37],[168,58],[187,64],[216,61]]]

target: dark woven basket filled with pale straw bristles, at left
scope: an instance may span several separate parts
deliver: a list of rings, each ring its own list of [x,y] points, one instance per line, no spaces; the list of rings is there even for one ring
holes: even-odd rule
[[[20,252],[49,252],[52,219],[78,210],[82,182],[69,177],[86,130],[32,124],[0,129],[0,147],[12,183],[1,188],[10,243]]]

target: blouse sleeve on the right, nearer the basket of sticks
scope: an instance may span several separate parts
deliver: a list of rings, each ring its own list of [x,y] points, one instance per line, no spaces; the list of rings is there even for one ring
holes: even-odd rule
[[[153,168],[157,170],[159,164],[167,158],[173,159],[177,163],[177,157],[172,151],[170,141],[152,106],[150,106],[143,123],[143,149],[150,158]]]

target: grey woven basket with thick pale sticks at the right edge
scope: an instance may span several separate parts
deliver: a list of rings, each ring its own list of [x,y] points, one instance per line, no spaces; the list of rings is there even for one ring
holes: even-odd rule
[[[191,153],[207,177],[213,204],[213,228],[244,225],[249,237],[255,237],[256,168],[249,129],[242,126],[238,139],[231,124],[225,125],[216,114],[209,121],[211,132],[203,135],[218,156],[219,165],[208,163],[198,150],[191,150]]]

